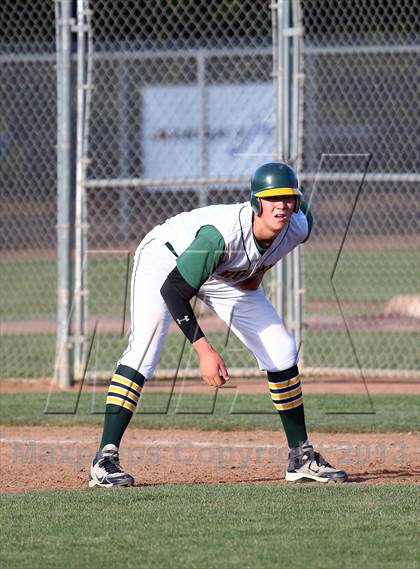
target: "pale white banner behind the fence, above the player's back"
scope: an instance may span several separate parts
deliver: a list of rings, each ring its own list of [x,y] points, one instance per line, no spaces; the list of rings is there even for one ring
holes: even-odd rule
[[[209,85],[205,89],[204,172],[200,172],[199,91],[195,85],[142,89],[145,178],[249,176],[272,159],[271,83]]]

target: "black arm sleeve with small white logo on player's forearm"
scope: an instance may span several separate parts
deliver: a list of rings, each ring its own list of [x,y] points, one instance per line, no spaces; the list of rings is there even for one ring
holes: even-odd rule
[[[200,338],[204,338],[204,333],[198,325],[197,318],[189,302],[196,292],[182,278],[176,268],[169,273],[160,289],[160,293],[174,321],[192,344]]]

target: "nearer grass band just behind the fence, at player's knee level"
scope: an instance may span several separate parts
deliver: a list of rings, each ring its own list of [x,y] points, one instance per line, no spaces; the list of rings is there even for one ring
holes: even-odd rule
[[[210,332],[207,336],[228,366],[256,367],[253,355],[233,334],[229,336],[227,347],[225,334]],[[416,370],[420,367],[418,332],[360,331],[353,332],[351,339],[362,369]],[[126,343],[120,334],[102,334],[99,331],[93,345],[89,370],[111,373]],[[168,336],[159,363],[160,369],[176,369],[182,344],[183,338],[179,334]],[[0,352],[3,377],[48,377],[53,374],[53,334],[3,334]],[[191,360],[189,357],[190,349],[187,349],[181,359],[181,369],[197,368],[195,354],[192,354]],[[307,331],[304,357],[305,366],[308,367],[357,368],[351,341],[343,331]]]

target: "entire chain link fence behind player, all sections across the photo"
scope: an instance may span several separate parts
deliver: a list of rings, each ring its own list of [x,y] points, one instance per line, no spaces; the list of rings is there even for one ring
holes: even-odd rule
[[[0,6],[2,377],[54,368],[55,4]],[[90,99],[79,220],[87,327],[72,341],[84,342],[91,373],[107,375],[125,346],[126,285],[142,237],[180,211],[247,199],[252,170],[276,156],[281,36],[273,45],[278,5],[266,0],[82,4],[93,40],[92,51],[89,42],[73,50],[74,65],[78,57],[91,69],[79,85]],[[315,215],[302,263],[305,369],[411,373],[419,366],[419,11],[409,0],[299,5],[303,130],[293,159]],[[276,280],[266,286],[275,293]],[[230,368],[255,369],[214,321],[204,327]],[[171,329],[161,372],[178,367],[181,344]],[[194,368],[189,357],[181,368]]]

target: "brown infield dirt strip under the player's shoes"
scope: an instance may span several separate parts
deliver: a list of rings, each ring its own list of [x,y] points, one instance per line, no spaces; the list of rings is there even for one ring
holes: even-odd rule
[[[2,492],[86,488],[101,429],[91,426],[0,429]],[[418,433],[311,434],[352,483],[420,483]],[[138,486],[284,483],[287,448],[279,431],[129,429],[121,463]]]

